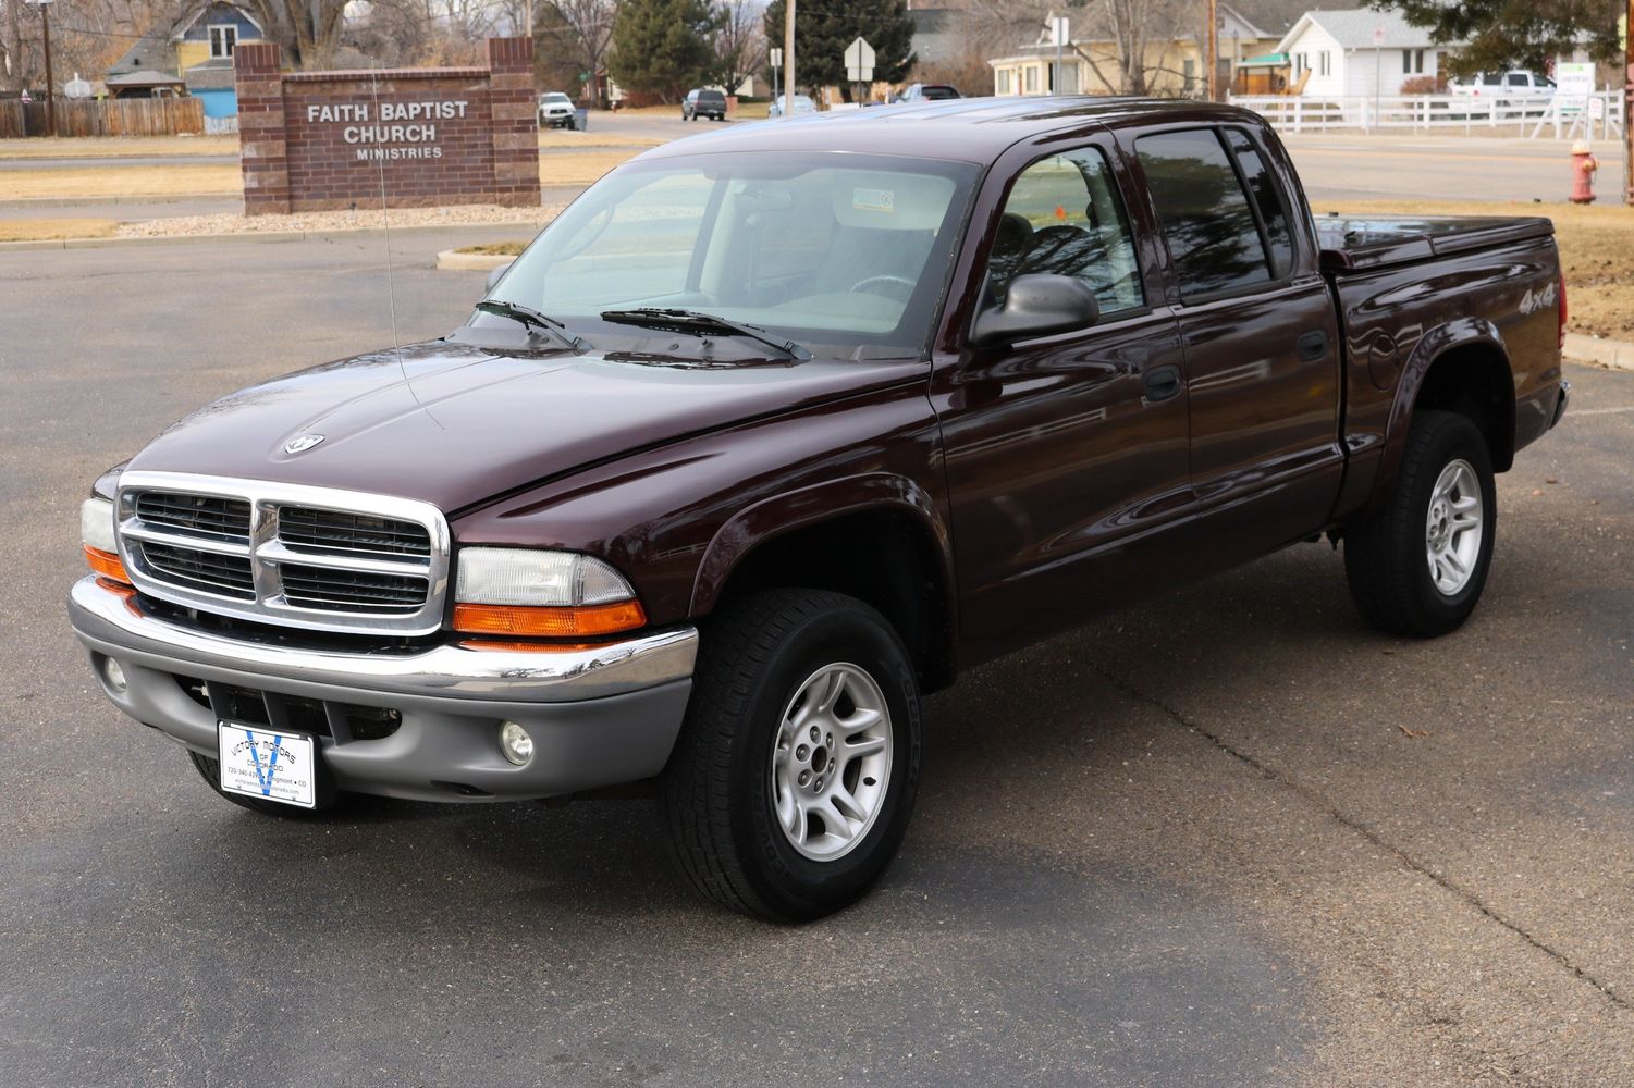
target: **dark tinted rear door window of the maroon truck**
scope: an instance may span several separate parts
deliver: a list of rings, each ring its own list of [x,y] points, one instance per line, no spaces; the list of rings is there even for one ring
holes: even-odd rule
[[[1250,145],[1252,150],[1252,145]],[[1286,274],[1292,250],[1273,256],[1260,212],[1214,129],[1159,132],[1136,140],[1152,206],[1185,299],[1252,288]],[[1268,203],[1286,240],[1286,216],[1265,163],[1255,154]]]

